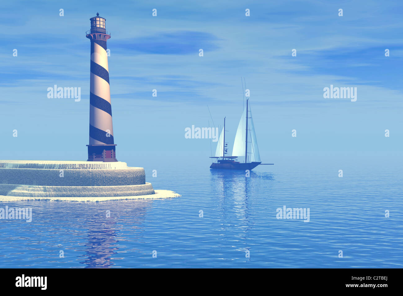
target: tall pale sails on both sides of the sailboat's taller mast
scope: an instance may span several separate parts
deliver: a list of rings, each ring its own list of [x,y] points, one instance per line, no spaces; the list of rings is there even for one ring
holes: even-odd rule
[[[247,162],[260,162],[260,154],[258,141],[256,140],[255,126],[253,125],[252,112],[249,108],[248,112],[248,157]],[[245,141],[246,137],[246,108],[243,110],[241,120],[239,120],[237,134],[235,135],[234,147],[232,150],[233,156],[238,156],[238,159],[245,159]],[[216,155],[217,156],[217,155]]]

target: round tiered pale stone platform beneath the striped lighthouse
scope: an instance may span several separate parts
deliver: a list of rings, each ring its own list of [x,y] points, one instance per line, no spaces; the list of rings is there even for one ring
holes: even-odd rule
[[[125,162],[0,160],[0,201],[105,201],[178,197],[154,190]]]

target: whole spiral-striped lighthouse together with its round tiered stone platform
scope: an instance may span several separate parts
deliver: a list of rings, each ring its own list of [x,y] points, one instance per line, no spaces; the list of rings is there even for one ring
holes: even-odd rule
[[[105,19],[91,17],[89,145],[87,161],[0,160],[2,201],[107,201],[179,197],[171,190],[154,190],[144,168],[116,160],[110,105]],[[52,110],[49,110],[52,112]],[[63,177],[63,178],[60,178]]]

